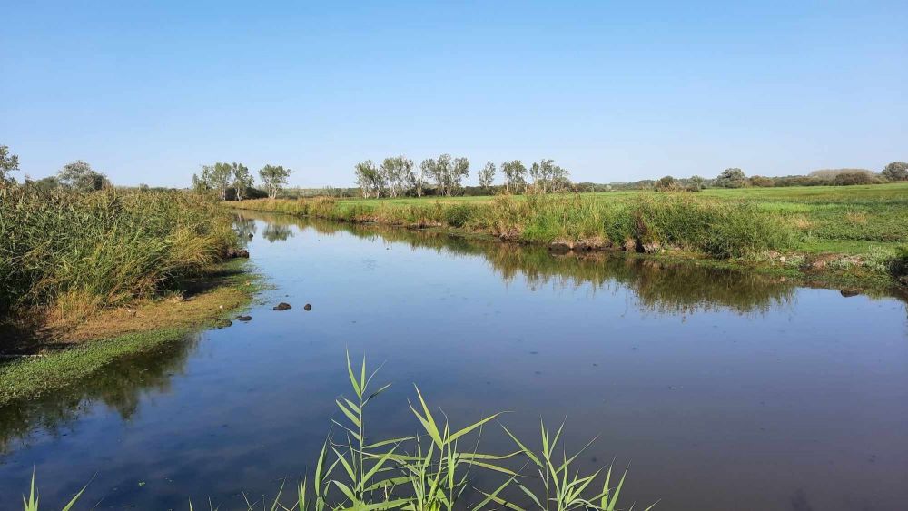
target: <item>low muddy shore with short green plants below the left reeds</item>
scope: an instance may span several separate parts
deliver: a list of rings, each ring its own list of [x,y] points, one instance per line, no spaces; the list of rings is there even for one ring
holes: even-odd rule
[[[226,326],[252,303],[261,278],[246,260],[212,265],[183,293],[103,310],[71,327],[36,332],[28,349],[0,365],[0,407],[61,390],[114,361],[161,349],[205,328]]]

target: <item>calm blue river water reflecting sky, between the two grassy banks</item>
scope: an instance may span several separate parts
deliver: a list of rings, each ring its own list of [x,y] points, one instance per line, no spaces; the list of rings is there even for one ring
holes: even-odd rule
[[[567,416],[569,446],[599,436],[585,467],[630,464],[626,506],[908,508],[903,301],[431,233],[242,226],[275,286],[252,321],[0,409],[5,505],[33,466],[48,505],[94,475],[99,508],[272,494],[310,466],[333,398],[350,394],[350,349],[396,382],[371,409],[376,437],[414,432],[416,382],[455,420],[509,410],[530,441],[540,417]],[[486,450],[508,450],[492,429]]]

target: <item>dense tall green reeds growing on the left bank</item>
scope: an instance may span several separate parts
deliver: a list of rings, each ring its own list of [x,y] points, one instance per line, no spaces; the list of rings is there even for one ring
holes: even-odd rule
[[[0,313],[78,316],[148,297],[222,258],[229,214],[182,192],[0,188]]]

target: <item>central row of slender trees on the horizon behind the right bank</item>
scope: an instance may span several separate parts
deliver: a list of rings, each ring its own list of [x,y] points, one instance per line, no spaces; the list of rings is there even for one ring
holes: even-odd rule
[[[478,171],[479,188],[490,192],[497,174],[495,163],[488,162]],[[433,194],[443,197],[463,192],[463,180],[469,177],[469,160],[441,154],[414,165],[406,156],[385,158],[380,164],[372,160],[354,167],[356,184],[365,198],[422,197]],[[502,186],[506,192],[563,192],[571,188],[570,173],[554,160],[541,160],[529,169],[519,160],[501,164]],[[527,176],[532,182],[527,182]]]

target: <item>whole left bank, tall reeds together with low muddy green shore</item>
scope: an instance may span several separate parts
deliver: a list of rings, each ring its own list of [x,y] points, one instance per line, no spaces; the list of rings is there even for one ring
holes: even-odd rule
[[[182,192],[0,186],[0,405],[212,325],[252,300],[232,215]]]

